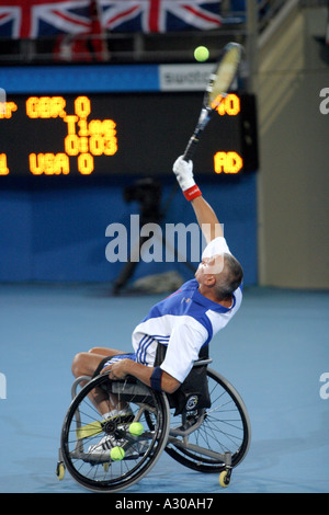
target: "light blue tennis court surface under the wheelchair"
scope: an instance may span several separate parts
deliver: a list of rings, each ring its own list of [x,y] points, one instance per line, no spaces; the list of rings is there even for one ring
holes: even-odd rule
[[[94,345],[129,351],[132,330],[159,298],[115,298],[92,285],[1,287],[0,492],[83,492],[55,474],[71,359]],[[248,408],[248,456],[223,490],[217,474],[163,454],[128,492],[329,492],[329,385],[320,380],[329,374],[328,312],[328,293],[246,289],[211,355]]]

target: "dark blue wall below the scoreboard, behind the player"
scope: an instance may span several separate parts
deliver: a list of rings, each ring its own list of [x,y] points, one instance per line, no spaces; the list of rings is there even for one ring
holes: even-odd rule
[[[132,182],[127,180],[125,185]],[[172,184],[163,183],[162,205],[169,199]],[[225,225],[231,251],[245,267],[246,284],[257,282],[256,175],[249,174],[220,186],[198,181],[205,198]],[[49,183],[48,183],[49,184]],[[53,184],[53,182],[50,183]],[[37,188],[18,185],[0,193],[0,281],[110,282],[124,264],[105,258],[105,237],[110,224],[124,224],[129,230],[131,214],[139,214],[137,203],[123,198],[124,183],[75,183],[58,187],[45,184]],[[194,222],[193,209],[180,191],[170,203],[164,224]],[[190,255],[188,253],[188,255]],[[178,270],[190,271],[181,263],[140,262],[135,277]]]

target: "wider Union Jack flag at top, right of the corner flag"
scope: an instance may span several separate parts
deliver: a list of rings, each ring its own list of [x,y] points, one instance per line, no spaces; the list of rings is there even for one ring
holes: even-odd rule
[[[207,31],[222,25],[220,0],[99,0],[111,32]]]

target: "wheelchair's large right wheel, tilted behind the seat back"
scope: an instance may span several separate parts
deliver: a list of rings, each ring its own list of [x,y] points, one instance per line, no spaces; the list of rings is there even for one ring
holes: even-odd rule
[[[207,368],[212,405],[172,419],[166,451],[201,472],[222,472],[239,465],[251,438],[245,403],[220,374]]]

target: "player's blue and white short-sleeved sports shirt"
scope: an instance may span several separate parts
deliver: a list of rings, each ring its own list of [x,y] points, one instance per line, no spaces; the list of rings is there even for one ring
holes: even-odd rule
[[[230,253],[223,237],[211,241],[203,258]],[[242,300],[242,288],[234,293],[230,308],[201,295],[198,283],[191,279],[174,294],[154,306],[135,329],[132,340],[137,363],[152,366],[158,344],[166,345],[161,369],[183,382],[202,346],[229,322]]]

